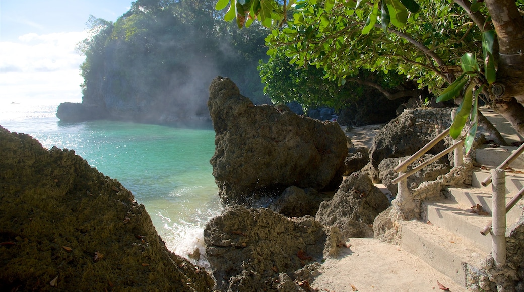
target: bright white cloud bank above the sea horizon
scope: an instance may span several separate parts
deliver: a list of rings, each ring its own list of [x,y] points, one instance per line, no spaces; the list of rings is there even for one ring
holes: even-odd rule
[[[85,57],[74,48],[86,36],[86,31],[28,33],[17,41],[0,42],[0,99],[80,102],[79,66]]]

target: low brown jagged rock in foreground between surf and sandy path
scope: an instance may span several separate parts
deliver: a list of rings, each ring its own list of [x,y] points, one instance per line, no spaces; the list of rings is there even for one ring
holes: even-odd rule
[[[322,259],[330,234],[310,216],[287,218],[269,209],[233,206],[204,229],[205,252],[216,289],[271,290],[279,273],[293,275]]]

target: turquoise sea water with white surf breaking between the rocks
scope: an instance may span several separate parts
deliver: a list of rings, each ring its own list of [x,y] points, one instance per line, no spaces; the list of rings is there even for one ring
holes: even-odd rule
[[[223,209],[209,163],[215,149],[211,124],[65,123],[56,117],[57,107],[4,103],[0,126],[28,134],[48,149],[73,149],[133,193],[169,250],[186,258],[195,248],[205,254],[205,223]],[[198,264],[205,266],[206,261]]]

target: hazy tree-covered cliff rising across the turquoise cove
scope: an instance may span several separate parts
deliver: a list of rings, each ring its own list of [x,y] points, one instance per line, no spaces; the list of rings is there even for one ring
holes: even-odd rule
[[[117,118],[207,118],[209,82],[219,74],[265,102],[256,66],[267,58],[268,31],[239,31],[220,16],[213,1],[191,0],[136,1],[115,23],[91,16],[92,34],[78,45],[83,104]]]

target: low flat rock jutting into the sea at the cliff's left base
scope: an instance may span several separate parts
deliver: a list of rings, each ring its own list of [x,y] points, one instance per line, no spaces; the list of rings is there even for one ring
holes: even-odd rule
[[[100,120],[107,117],[107,110],[98,105],[61,103],[57,109],[57,118],[63,122]]]

